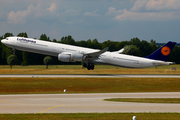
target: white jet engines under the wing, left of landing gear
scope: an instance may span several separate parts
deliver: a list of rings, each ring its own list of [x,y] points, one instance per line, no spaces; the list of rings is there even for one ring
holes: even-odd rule
[[[75,61],[81,62],[85,60],[85,56],[83,54],[78,54],[78,53],[64,52],[58,54],[58,60],[63,62],[75,62]]]

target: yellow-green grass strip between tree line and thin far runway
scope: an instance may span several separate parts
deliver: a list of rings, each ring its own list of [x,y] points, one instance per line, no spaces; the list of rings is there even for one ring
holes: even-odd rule
[[[172,70],[171,68],[176,68]],[[0,66],[0,74],[179,74],[180,65],[161,66],[141,69],[121,68],[109,65],[96,65],[94,70],[82,68],[82,65],[45,65],[34,66],[13,66],[10,69],[7,65]]]

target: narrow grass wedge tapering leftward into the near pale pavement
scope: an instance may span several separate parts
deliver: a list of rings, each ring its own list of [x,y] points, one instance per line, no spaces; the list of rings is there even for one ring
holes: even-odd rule
[[[180,98],[111,98],[105,101],[140,103],[180,103]]]

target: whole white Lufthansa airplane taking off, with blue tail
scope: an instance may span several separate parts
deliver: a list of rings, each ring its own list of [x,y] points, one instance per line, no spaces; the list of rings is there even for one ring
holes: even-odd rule
[[[95,64],[107,64],[126,68],[147,68],[175,64],[174,62],[166,62],[176,44],[176,42],[172,41],[169,41],[146,57],[120,54],[123,49],[109,52],[108,47],[103,50],[97,50],[15,36],[7,37],[1,40],[1,42],[13,49],[56,56],[62,62],[83,61],[83,67],[88,70],[93,70]]]

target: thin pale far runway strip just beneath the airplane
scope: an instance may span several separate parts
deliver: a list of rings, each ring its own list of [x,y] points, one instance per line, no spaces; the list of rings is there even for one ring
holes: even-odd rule
[[[96,75],[96,74],[89,74],[89,75],[0,75],[0,78],[12,78],[12,77],[23,77],[23,78],[180,78],[180,75],[139,75],[139,74],[129,74],[129,75]]]

